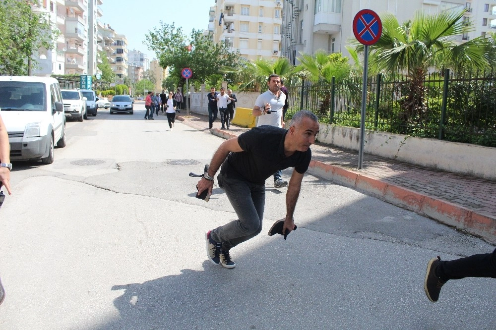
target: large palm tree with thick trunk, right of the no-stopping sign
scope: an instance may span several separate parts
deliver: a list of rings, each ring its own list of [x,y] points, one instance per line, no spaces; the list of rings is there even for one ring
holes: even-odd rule
[[[404,121],[421,118],[428,110],[424,79],[430,69],[450,68],[456,72],[484,69],[495,63],[489,39],[456,41],[473,30],[468,20],[462,20],[465,12],[445,10],[431,15],[419,11],[401,26],[394,15],[382,15],[382,36],[371,46],[371,64],[386,74],[407,74],[407,95],[400,102]]]

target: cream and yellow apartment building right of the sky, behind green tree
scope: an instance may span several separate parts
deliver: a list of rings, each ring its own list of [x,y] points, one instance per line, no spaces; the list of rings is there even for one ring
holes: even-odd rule
[[[284,0],[217,0],[208,32],[248,60],[280,56]]]

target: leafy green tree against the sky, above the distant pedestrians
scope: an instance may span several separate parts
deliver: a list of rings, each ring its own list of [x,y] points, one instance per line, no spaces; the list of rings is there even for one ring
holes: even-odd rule
[[[169,68],[169,74],[178,78],[179,87],[184,87],[186,80],[181,71],[189,67],[193,71],[191,80],[203,82],[212,74],[220,73],[223,66],[236,67],[240,58],[239,51],[229,52],[225,43],[216,44],[210,36],[203,36],[200,30],[192,30],[189,38],[181,27],[176,28],[160,21],[146,35],[145,44],[159,58],[160,66]]]

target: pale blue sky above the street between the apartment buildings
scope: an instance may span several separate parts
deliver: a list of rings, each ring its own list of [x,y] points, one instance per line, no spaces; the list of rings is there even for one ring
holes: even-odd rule
[[[102,23],[127,38],[127,50],[133,49],[148,55],[152,60],[155,52],[143,44],[145,34],[164,23],[181,26],[189,36],[192,29],[208,29],[209,10],[215,0],[102,0],[100,5]],[[146,4],[146,7],[144,6]]]

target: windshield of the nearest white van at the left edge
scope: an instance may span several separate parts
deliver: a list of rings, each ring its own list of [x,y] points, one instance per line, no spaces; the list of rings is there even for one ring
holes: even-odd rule
[[[44,83],[0,81],[0,109],[2,111],[45,111]]]

